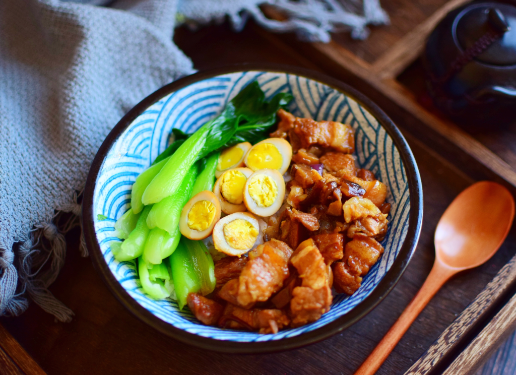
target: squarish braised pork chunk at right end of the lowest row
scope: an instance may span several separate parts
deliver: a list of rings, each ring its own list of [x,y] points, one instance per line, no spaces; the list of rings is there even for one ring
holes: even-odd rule
[[[292,291],[292,296],[292,327],[300,327],[319,319],[322,314],[330,310],[333,299],[328,285],[319,289],[297,286]]]

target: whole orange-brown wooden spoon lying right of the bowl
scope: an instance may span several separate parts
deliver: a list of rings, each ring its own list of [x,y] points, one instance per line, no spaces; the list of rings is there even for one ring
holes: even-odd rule
[[[456,273],[487,262],[514,218],[514,199],[502,185],[482,181],[461,192],[437,224],[436,260],[425,283],[355,375],[374,374],[423,308]]]

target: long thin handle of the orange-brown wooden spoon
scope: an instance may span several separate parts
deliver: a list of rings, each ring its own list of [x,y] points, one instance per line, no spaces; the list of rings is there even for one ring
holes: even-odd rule
[[[436,259],[421,289],[354,375],[373,375],[380,368],[412,322],[443,284],[455,273],[457,273],[456,270],[446,267]]]

